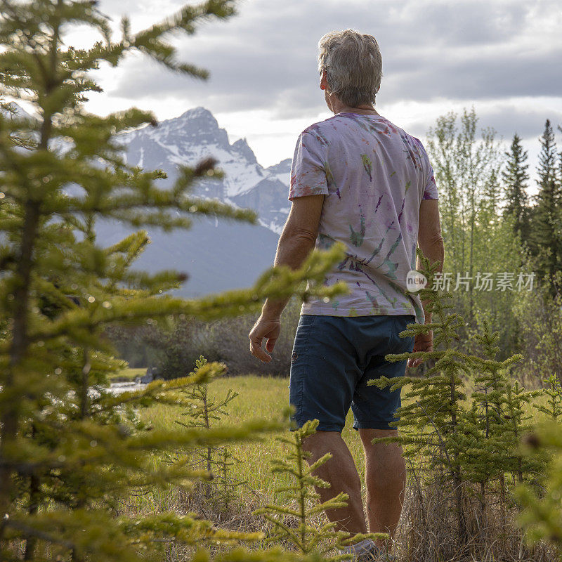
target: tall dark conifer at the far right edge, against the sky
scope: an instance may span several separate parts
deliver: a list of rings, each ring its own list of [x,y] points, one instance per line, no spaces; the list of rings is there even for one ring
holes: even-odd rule
[[[553,281],[556,271],[562,268],[562,189],[556,177],[556,143],[549,119],[540,144],[537,168],[539,192],[530,237],[540,277],[547,275]],[[556,287],[551,287],[554,296]]]

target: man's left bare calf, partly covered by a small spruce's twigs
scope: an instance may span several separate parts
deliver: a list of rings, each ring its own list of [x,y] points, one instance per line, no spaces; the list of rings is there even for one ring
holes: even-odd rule
[[[315,476],[330,484],[329,488],[316,488],[320,500],[326,502],[339,492],[349,496],[347,507],[326,511],[329,521],[336,523],[336,530],[344,530],[352,534],[367,532],[361,499],[361,481],[351,452],[341,438],[341,434],[337,431],[317,431],[306,438],[303,446],[312,453],[311,458],[308,459],[310,464],[327,452],[332,453],[332,458],[315,471]]]

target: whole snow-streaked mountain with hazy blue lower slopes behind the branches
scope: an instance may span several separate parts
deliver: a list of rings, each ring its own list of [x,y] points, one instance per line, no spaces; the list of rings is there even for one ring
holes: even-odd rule
[[[32,117],[15,103],[11,109],[14,116]],[[151,243],[133,267],[150,273],[164,269],[187,273],[187,282],[176,294],[194,297],[250,287],[273,264],[279,233],[289,212],[290,158],[264,168],[246,139],[230,144],[227,132],[204,107],[195,107],[157,126],[122,133],[120,143],[126,146],[129,164],[166,172],[168,178],[160,180],[162,188],[174,182],[178,164],[192,165],[204,157],[215,157],[225,177],[201,181],[194,195],[216,197],[259,214],[258,225],[201,217],[190,230],[165,233],[148,228]],[[64,142],[53,141],[53,148],[65,150]],[[107,246],[131,230],[116,221],[98,220],[96,224],[98,240]]]

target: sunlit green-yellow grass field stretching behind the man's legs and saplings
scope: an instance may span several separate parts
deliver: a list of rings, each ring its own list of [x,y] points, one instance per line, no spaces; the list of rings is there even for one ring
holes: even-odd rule
[[[128,370],[125,376],[133,377],[132,370]],[[282,412],[287,408],[289,403],[289,379],[258,377],[247,375],[241,377],[219,377],[209,384],[209,398],[220,400],[228,390],[232,389],[238,394],[227,406],[229,415],[223,419],[220,424],[242,424],[250,419],[274,420],[282,418]],[[471,388],[466,388],[466,392],[470,393]],[[403,390],[403,396],[405,389]],[[530,407],[526,406],[529,414],[535,421],[542,418],[542,414]],[[138,410],[138,415],[142,421],[147,422],[154,429],[174,429],[177,421],[185,421],[183,414],[185,407],[172,405],[156,405],[145,409]],[[355,464],[358,467],[362,482],[364,478],[364,460],[362,446],[358,432],[353,430],[353,414],[348,412],[346,427],[342,433],[344,440],[348,444]],[[287,426],[288,428],[288,419]],[[287,476],[279,474],[272,475],[270,472],[271,460],[274,457],[285,457],[287,445],[280,443],[275,437],[282,434],[287,435],[287,429],[278,433],[270,433],[257,441],[244,441],[239,443],[230,443],[228,449],[235,457],[235,462],[230,468],[229,477],[232,481],[242,482],[236,490],[236,496],[233,503],[230,504],[228,511],[216,509],[216,505],[209,503],[207,499],[202,497],[201,492],[189,492],[187,495],[179,488],[171,490],[162,490],[154,488],[146,490],[142,495],[131,497],[129,500],[129,508],[144,511],[146,513],[154,513],[157,511],[196,511],[201,513],[205,518],[215,521],[219,526],[229,528],[231,530],[255,531],[263,530],[263,521],[257,516],[253,516],[252,512],[266,504],[283,505],[286,503],[285,494],[276,492],[278,486],[289,484]],[[181,453],[181,452],[180,452]],[[166,458],[154,457],[153,462],[155,468],[162,463],[167,462]],[[409,483],[407,485],[407,496],[403,511],[401,525],[398,528],[398,543],[402,544],[400,549],[404,548],[405,537],[409,525],[412,524],[412,499],[408,499],[408,494],[415,488],[414,476],[408,471]],[[200,488],[202,490],[202,488]],[[410,490],[410,492],[408,492]],[[363,490],[365,492],[365,488]],[[436,497],[439,497],[438,494]],[[433,505],[433,504],[432,504]],[[413,514],[413,515],[412,515]],[[494,518],[497,518],[497,514]],[[318,523],[324,521],[323,514],[318,516]],[[423,525],[422,525],[423,526]],[[431,525],[430,525],[431,526]],[[515,531],[512,533],[514,541],[518,541],[518,535]],[[506,536],[508,536],[506,535]],[[511,540],[511,538],[509,540]],[[397,543],[397,544],[398,544]],[[254,544],[252,548],[259,548],[259,544]],[[400,551],[400,560],[404,552]],[[185,557],[178,556],[174,560],[184,560]],[[490,558],[491,559],[491,558]]]

